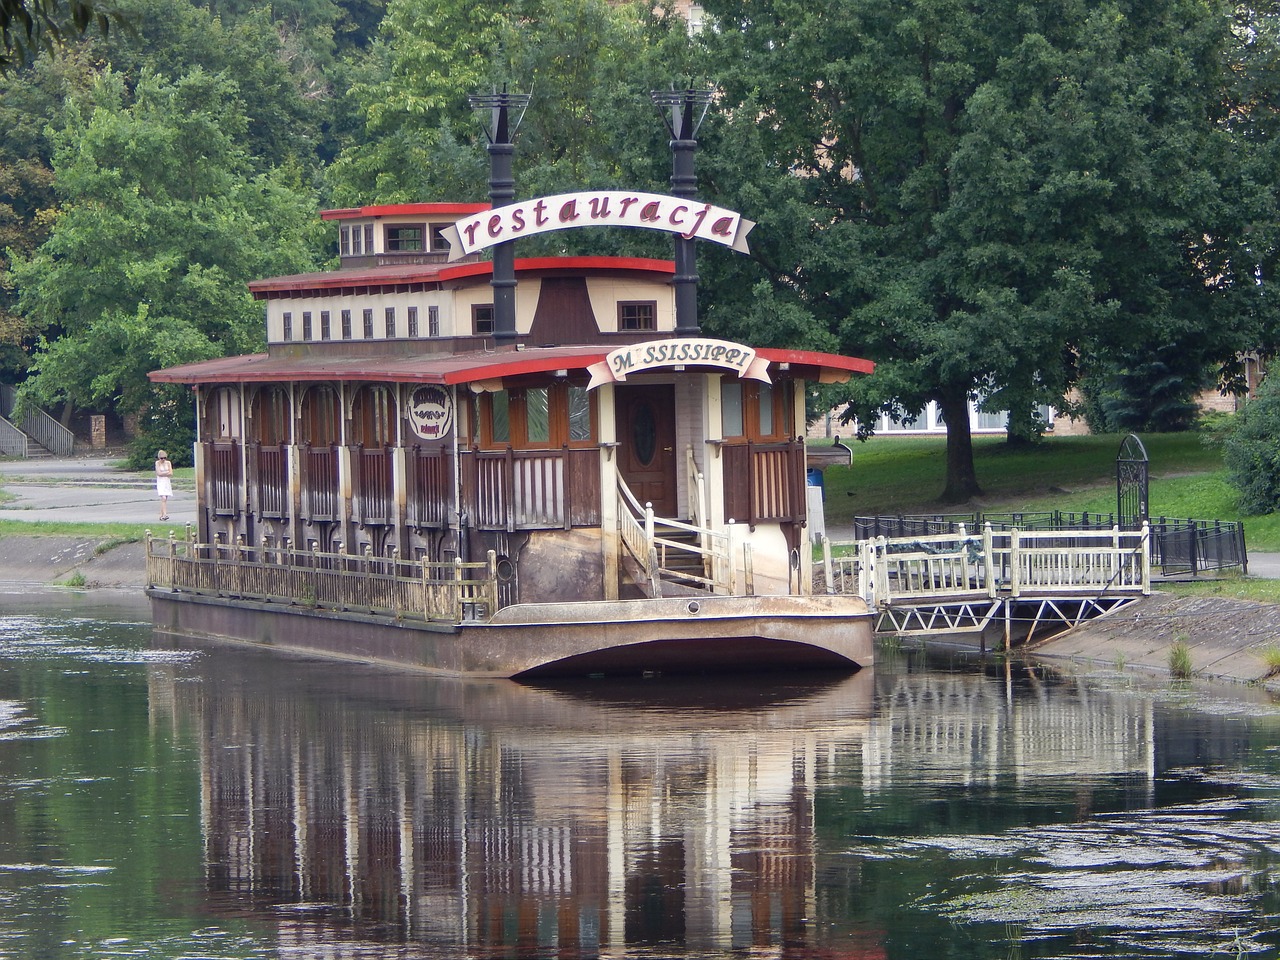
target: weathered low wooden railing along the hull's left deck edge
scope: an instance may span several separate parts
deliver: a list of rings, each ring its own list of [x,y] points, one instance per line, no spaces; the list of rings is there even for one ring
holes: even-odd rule
[[[453,623],[498,609],[492,550],[479,563],[431,562],[148,536],[146,563],[150,586],[178,593]]]

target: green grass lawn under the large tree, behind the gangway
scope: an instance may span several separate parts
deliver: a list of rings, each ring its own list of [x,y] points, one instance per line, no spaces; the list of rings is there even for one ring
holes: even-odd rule
[[[1220,448],[1207,434],[1144,434],[1151,460],[1151,516],[1190,520],[1243,520],[1253,550],[1280,550],[1280,515],[1242,517],[1235,492],[1224,479]],[[851,467],[826,471],[828,524],[854,516],[1116,509],[1115,461],[1120,435],[1048,436],[1027,449],[1010,448],[1004,436],[974,438],[974,466],[982,497],[966,504],[942,504],[946,439],[876,436],[852,443]]]

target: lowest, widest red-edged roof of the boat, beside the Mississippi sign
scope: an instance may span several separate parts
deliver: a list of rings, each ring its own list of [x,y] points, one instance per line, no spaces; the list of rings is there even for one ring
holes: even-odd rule
[[[586,370],[613,349],[611,344],[529,347],[474,353],[390,357],[273,357],[252,353],[186,364],[151,374],[156,383],[288,383],[291,380],[371,380],[384,383],[463,384],[554,370]],[[771,364],[790,364],[813,374],[869,374],[876,365],[859,357],[803,349],[762,347],[756,356]]]

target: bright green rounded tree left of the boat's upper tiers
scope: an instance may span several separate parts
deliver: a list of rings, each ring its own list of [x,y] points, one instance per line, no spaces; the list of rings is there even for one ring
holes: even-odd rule
[[[123,413],[155,402],[147,372],[262,342],[246,283],[314,264],[312,196],[296,168],[253,174],[236,84],[143,76],[127,102],[106,73],[55,136],[59,211],[17,257],[19,308],[42,337],[29,397]]]

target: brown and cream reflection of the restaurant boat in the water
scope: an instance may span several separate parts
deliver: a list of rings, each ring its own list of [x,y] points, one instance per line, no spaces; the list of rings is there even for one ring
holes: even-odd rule
[[[198,673],[157,669],[151,701],[198,724],[210,896],[282,946],[883,955],[813,923],[814,785],[863,754],[872,671],[548,689],[212,649]]]

